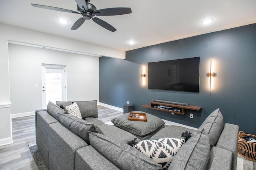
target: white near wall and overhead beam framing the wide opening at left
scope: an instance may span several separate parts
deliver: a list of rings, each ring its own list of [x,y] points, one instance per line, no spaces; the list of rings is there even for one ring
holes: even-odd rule
[[[0,23],[0,145],[12,138],[8,41],[125,59],[125,51]],[[8,106],[5,106],[8,103]],[[8,107],[8,109],[6,109]]]

